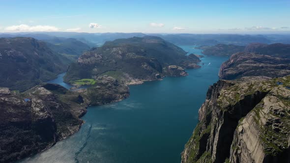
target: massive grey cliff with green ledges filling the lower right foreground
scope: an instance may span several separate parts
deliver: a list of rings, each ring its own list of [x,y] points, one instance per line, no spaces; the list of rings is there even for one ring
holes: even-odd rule
[[[182,163],[290,162],[289,84],[260,76],[210,86]]]

